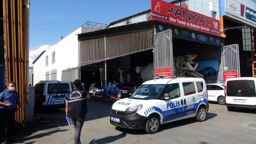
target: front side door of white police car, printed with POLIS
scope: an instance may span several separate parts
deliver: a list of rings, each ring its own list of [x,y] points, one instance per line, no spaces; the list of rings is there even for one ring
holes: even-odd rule
[[[180,96],[180,86],[179,83],[167,84],[162,93],[163,122],[178,120],[183,116],[183,106],[181,104],[183,97]],[[164,94],[169,94],[170,100],[164,100]]]

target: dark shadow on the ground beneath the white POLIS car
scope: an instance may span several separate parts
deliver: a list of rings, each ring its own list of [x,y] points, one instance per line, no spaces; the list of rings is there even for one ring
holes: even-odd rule
[[[210,120],[210,119],[212,119],[212,118],[214,118],[216,116],[217,116],[217,114],[208,112],[206,120]],[[161,132],[163,130],[171,129],[171,128],[185,126],[187,124],[192,124],[192,123],[195,123],[195,122],[197,122],[195,120],[195,118],[187,118],[187,119],[184,119],[184,120],[177,120],[177,121],[174,121],[174,122],[170,122],[170,123],[161,125],[160,128],[159,128],[159,132]],[[127,134],[134,134],[134,135],[147,134],[143,130],[128,130],[128,129],[119,128],[119,127],[116,127],[116,130],[118,130],[120,132],[127,133]]]

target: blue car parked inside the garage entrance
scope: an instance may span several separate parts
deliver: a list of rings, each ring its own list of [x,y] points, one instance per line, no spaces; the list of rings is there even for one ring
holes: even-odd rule
[[[132,87],[129,85],[115,83],[108,84],[106,92],[108,96],[124,98],[131,96],[134,90],[132,90]]]

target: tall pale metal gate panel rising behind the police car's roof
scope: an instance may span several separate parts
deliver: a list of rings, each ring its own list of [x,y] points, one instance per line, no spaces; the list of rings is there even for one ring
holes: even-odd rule
[[[172,30],[165,30],[154,35],[154,74],[156,68],[171,67],[173,70]]]

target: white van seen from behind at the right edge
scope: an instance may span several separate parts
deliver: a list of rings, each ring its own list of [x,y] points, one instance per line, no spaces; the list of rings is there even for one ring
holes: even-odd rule
[[[229,111],[236,107],[256,108],[256,78],[230,78],[226,80],[226,106]]]

